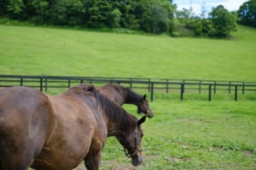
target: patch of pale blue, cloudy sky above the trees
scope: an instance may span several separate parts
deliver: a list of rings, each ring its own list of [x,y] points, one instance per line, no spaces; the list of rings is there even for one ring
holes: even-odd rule
[[[195,14],[201,14],[202,7],[205,8],[208,14],[213,7],[217,7],[219,4],[224,5],[224,8],[229,11],[238,10],[244,2],[247,2],[247,0],[173,0],[173,3],[177,4],[177,9],[192,7]]]

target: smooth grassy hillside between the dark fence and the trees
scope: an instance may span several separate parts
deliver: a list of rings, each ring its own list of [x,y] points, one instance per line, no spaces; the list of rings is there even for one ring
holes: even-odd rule
[[[253,81],[256,30],[231,40],[0,25],[1,74]]]

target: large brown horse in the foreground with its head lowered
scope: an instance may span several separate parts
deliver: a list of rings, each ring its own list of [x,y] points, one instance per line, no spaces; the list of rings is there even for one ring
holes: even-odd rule
[[[0,170],[70,170],[84,160],[99,169],[101,150],[115,136],[134,166],[142,161],[141,124],[90,85],[59,96],[34,88],[0,92]]]

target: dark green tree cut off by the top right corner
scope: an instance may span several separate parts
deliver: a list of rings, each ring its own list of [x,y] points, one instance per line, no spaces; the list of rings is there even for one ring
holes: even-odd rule
[[[256,27],[256,0],[242,3],[238,10],[238,17],[241,24]]]

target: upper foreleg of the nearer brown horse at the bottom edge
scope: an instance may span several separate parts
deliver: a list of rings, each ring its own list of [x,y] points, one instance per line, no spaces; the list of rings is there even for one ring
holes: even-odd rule
[[[101,162],[101,152],[90,154],[85,157],[84,164],[87,170],[98,170]]]

